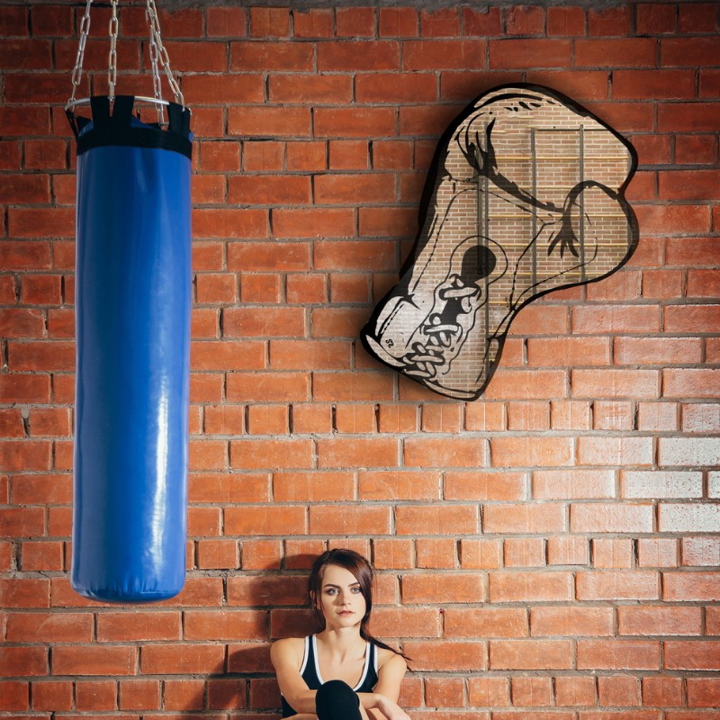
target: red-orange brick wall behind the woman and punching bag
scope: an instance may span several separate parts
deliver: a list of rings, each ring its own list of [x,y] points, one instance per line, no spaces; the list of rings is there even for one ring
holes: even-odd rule
[[[350,545],[413,718],[716,718],[719,7],[165,14],[197,134],[188,579],[117,608],[67,580],[80,9],[4,4],[2,710],[272,716],[268,642],[307,628],[311,555]],[[121,23],[119,90],[148,94],[141,8]],[[640,244],[521,311],[481,401],[443,401],[358,330],[447,121],[520,80],[635,143]]]

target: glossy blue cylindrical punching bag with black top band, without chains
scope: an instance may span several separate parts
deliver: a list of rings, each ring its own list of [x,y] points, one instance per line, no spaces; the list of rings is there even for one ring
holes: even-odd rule
[[[183,588],[191,305],[190,112],[68,111],[77,140],[71,581],[149,602]]]

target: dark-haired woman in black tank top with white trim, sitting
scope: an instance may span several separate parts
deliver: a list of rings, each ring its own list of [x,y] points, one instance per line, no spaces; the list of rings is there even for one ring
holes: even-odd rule
[[[293,720],[410,720],[398,706],[407,665],[367,631],[373,568],[352,550],[329,550],[312,566],[311,607],[324,623],[308,637],[273,644],[283,717]]]

